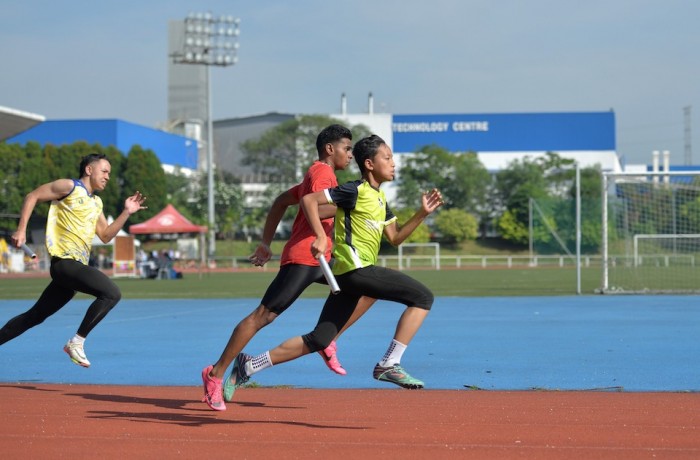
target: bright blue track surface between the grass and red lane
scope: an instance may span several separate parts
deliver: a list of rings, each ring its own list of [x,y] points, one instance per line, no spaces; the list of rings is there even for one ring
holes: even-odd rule
[[[33,301],[2,301],[0,324]],[[90,334],[92,367],[63,344],[89,304],[74,300],[0,346],[0,382],[201,385],[233,327],[259,299],[122,300]],[[258,354],[309,332],[322,299],[302,299],[246,347]],[[348,375],[314,354],[253,376],[260,385],[388,388],[372,368],[403,306],[378,302],[338,342]],[[402,365],[429,389],[699,391],[700,297],[437,298]],[[388,386],[387,386],[388,385]]]

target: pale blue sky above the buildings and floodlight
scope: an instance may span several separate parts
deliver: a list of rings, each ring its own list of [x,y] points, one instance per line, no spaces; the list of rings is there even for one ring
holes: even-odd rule
[[[700,1],[0,0],[0,105],[48,119],[167,117],[168,22],[240,18],[214,119],[614,110],[618,153],[700,164]]]

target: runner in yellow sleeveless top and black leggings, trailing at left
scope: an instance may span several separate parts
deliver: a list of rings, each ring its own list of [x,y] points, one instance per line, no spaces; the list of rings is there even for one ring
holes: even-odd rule
[[[58,179],[29,192],[22,204],[17,231],[12,244],[20,247],[27,241],[27,222],[37,203],[51,201],[46,222],[46,248],[51,255],[51,283],[39,300],[26,312],[12,318],[0,329],[0,345],[26,330],[41,324],[73,298],[76,292],[95,296],[75,336],[63,350],[71,361],[89,367],[83,343],[90,331],[121,298],[114,282],[100,270],[88,265],[92,239],[97,235],[107,243],[117,235],[129,216],[145,209],[146,199],[136,192],[124,202],[124,210],[111,224],[102,213],[102,200],[95,192],[109,182],[111,165],[103,154],[90,154],[82,159],[80,179]]]

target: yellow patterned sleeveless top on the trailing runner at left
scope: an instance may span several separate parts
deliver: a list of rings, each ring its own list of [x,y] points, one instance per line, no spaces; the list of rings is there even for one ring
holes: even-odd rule
[[[82,182],[73,179],[73,190],[51,202],[46,222],[46,249],[53,257],[75,259],[87,265],[102,199],[90,195]]]

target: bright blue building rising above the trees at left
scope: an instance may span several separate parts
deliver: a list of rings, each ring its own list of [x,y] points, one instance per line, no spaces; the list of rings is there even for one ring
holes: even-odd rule
[[[197,141],[123,120],[50,120],[11,137],[7,143],[64,145],[84,141],[114,146],[125,155],[134,145],[152,150],[161,163],[197,168]]]

